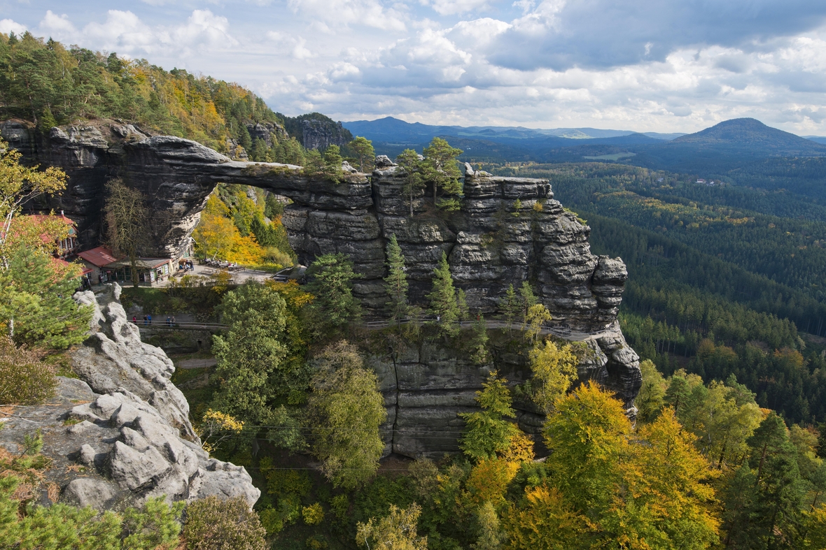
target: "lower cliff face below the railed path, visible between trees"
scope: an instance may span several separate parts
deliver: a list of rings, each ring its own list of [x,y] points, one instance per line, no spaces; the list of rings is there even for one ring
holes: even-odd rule
[[[624,402],[626,414],[634,418],[634,397],[642,383],[639,358],[625,343],[619,327],[613,325],[581,342],[577,345],[579,383],[593,380],[610,388]],[[377,374],[387,408],[387,421],[382,425],[385,454],[439,458],[459,451],[458,438],[465,426],[459,414],[477,410],[476,393],[491,370],[496,369],[511,388],[531,376],[524,343],[500,335],[491,347],[491,363],[481,365],[472,363],[463,350],[440,341],[368,355],[366,364]],[[544,414],[518,394],[514,409],[520,429],[534,436],[542,454]]]

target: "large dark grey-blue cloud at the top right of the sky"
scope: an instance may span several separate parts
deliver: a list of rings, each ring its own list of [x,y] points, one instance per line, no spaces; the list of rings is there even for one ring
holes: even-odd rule
[[[687,46],[758,49],[826,21],[809,0],[544,0],[496,41],[491,59],[507,67],[607,68],[662,61]]]

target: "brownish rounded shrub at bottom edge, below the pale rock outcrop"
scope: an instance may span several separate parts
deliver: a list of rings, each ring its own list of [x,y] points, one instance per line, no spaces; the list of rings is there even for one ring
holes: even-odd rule
[[[266,531],[243,496],[207,496],[187,508],[183,538],[189,550],[265,550]]]

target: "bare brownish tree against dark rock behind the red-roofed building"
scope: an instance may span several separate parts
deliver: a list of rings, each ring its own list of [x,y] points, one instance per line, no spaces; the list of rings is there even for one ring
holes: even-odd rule
[[[132,286],[138,286],[138,257],[149,242],[149,209],[146,197],[126,186],[120,178],[107,182],[107,198],[103,204],[107,245],[116,254],[129,258]]]

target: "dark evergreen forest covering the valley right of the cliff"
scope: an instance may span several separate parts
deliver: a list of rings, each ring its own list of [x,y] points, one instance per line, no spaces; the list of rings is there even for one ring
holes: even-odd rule
[[[666,373],[734,374],[790,420],[826,418],[823,205],[621,164],[496,172],[548,177],[555,197],[587,219],[592,249],[623,258],[622,320],[643,357]]]

